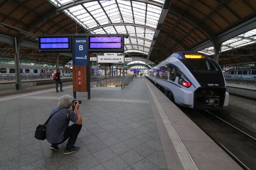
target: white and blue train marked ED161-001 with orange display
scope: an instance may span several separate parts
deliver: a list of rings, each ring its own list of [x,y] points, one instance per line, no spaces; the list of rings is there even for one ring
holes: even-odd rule
[[[175,52],[144,75],[176,104],[198,110],[220,110],[229,93],[217,62],[198,52]]]

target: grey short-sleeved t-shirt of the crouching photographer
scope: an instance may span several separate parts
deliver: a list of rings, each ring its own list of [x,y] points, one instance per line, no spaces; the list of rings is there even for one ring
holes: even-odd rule
[[[60,108],[53,109],[49,116],[55,113]],[[69,119],[67,118],[67,108],[59,110],[49,120],[46,125],[46,139],[49,143],[59,143],[64,139],[64,132],[69,127],[69,121],[76,122],[78,116],[74,111],[69,110]]]

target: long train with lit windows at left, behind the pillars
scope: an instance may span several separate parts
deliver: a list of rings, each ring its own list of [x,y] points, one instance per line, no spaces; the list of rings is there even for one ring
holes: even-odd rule
[[[72,69],[69,68],[60,68],[61,74],[64,76],[72,76]],[[20,74],[21,75],[49,75],[50,77],[56,72],[55,67],[44,67],[44,66],[27,66],[20,65]],[[15,75],[15,65],[14,64],[1,64],[0,66],[0,75]]]

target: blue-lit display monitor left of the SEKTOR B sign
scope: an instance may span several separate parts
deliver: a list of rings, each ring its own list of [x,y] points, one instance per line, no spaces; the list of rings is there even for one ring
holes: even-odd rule
[[[40,52],[71,52],[70,35],[42,35],[38,36]]]

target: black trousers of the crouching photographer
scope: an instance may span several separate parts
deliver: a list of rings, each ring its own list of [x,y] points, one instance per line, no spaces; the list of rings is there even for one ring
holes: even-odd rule
[[[69,126],[66,131],[64,132],[64,139],[59,143],[53,143],[53,145],[59,145],[65,142],[68,138],[68,143],[66,145],[66,149],[72,148],[75,145],[77,136],[82,128],[82,125],[73,124]]]

